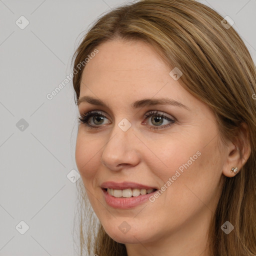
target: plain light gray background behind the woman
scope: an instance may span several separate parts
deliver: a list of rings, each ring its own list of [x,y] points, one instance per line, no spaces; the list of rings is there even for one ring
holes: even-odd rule
[[[124,2],[0,0],[0,255],[77,255],[76,186],[67,178],[77,170],[72,83],[46,94],[71,72],[91,22]],[[200,2],[234,20],[255,62],[256,0]],[[21,15],[24,29],[15,23]]]

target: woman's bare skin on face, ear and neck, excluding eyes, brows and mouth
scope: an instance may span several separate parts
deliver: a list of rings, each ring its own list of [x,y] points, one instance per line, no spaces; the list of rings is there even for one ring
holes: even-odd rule
[[[220,141],[213,112],[186,91],[172,68],[153,47],[142,41],[115,39],[97,47],[99,52],[86,64],[80,97],[89,95],[105,101],[109,108],[81,102],[79,113],[98,110],[106,116],[100,128],[79,124],[75,160],[92,208],[107,234],[124,243],[129,256],[206,256],[207,230],[216,208],[225,176],[244,164],[235,145]],[[132,109],[142,98],[168,97],[190,108],[152,105]],[[149,110],[167,117],[159,127]],[[131,127],[123,131],[118,123],[126,118]],[[145,124],[142,124],[145,123]],[[151,129],[150,129],[151,127]],[[154,202],[146,201],[132,209],[114,209],[104,200],[104,181],[133,181],[161,188],[178,167],[199,151],[201,154]],[[126,221],[130,229],[118,226]]]

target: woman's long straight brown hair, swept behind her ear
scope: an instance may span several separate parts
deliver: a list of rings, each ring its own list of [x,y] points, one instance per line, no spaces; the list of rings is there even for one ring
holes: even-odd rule
[[[216,11],[193,0],[140,0],[94,22],[73,55],[73,70],[109,40],[142,40],[155,47],[192,95],[214,112],[223,141],[233,141],[241,123],[249,130],[251,153],[234,177],[226,177],[209,228],[210,256],[256,254],[256,68],[238,33]],[[73,75],[76,100],[85,64]],[[171,70],[171,69],[170,69]],[[253,96],[254,95],[254,96]],[[127,255],[125,245],[104,231],[86,197],[81,179],[80,255]],[[228,220],[234,230],[226,235]],[[84,228],[84,225],[85,228]],[[96,231],[95,231],[96,227]],[[86,238],[86,239],[85,239]],[[86,242],[85,242],[86,240]]]

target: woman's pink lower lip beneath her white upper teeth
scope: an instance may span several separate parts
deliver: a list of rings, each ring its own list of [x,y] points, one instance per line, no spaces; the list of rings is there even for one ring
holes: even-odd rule
[[[134,196],[134,197],[114,197],[112,195],[110,195],[106,190],[101,189],[103,194],[104,194],[104,198],[105,201],[108,205],[110,205],[113,208],[119,208],[119,209],[130,209],[133,208],[145,201],[147,201],[149,199],[149,197],[151,195],[154,194],[154,192],[156,192],[157,190],[155,190],[152,193],[149,194],[141,194],[138,196]]]

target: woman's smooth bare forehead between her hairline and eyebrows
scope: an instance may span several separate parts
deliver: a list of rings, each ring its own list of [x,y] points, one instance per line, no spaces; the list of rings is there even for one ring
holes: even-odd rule
[[[126,108],[141,98],[168,97],[189,108],[203,107],[179,80],[153,46],[143,41],[115,40],[98,47],[98,53],[85,65],[80,97],[89,95]],[[108,104],[109,105],[109,104]]]

